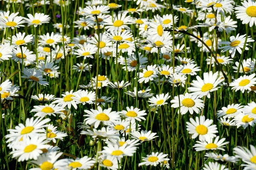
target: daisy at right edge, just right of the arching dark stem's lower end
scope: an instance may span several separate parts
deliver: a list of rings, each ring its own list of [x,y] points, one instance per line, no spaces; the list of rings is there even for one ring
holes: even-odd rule
[[[232,90],[240,90],[242,93],[244,93],[245,90],[251,91],[250,87],[254,85],[256,85],[255,74],[240,76],[230,83],[230,86],[233,87],[231,88]]]

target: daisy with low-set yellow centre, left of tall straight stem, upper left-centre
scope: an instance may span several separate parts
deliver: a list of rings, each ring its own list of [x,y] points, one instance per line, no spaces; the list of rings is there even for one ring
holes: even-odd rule
[[[96,45],[89,43],[79,45],[78,48],[79,49],[77,49],[74,54],[77,55],[76,57],[84,57],[84,59],[86,59],[87,57],[93,58],[92,54],[95,54],[98,50]]]

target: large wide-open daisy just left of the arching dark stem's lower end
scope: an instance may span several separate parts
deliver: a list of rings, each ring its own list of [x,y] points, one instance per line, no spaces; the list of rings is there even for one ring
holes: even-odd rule
[[[221,77],[218,77],[218,72],[213,74],[212,71],[204,73],[204,80],[199,76],[197,76],[196,79],[197,80],[192,81],[192,87],[189,87],[188,89],[192,94],[198,95],[198,98],[203,96],[210,98],[210,92],[218,90],[220,87],[217,87],[217,85],[224,80],[221,79]]]

